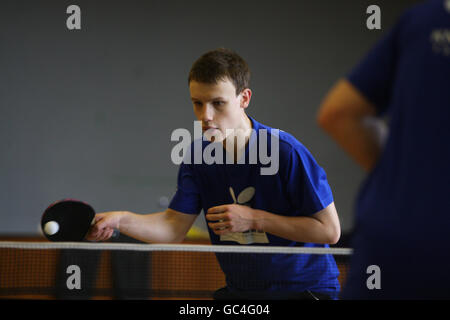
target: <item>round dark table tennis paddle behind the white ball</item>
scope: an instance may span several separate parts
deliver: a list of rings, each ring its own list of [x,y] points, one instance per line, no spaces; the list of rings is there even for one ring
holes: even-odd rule
[[[94,223],[95,210],[87,203],[63,199],[52,203],[43,213],[41,228],[50,241],[84,241]],[[113,237],[118,237],[118,230]]]

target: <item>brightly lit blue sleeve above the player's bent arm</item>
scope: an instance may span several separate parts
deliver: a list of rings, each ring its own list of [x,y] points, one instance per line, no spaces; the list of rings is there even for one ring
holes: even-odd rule
[[[333,202],[325,171],[303,146],[292,148],[287,172],[287,192],[301,215],[312,215]]]

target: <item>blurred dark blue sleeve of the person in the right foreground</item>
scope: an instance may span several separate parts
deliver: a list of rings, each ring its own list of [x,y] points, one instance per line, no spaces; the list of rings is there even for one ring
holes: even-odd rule
[[[399,55],[399,33],[404,15],[347,75],[347,80],[370,102],[379,115],[388,110]]]

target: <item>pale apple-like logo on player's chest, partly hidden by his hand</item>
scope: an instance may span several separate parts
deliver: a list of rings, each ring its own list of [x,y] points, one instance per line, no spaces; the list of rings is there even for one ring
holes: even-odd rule
[[[233,202],[250,207],[250,202],[255,195],[254,187],[247,187],[239,193],[238,197],[234,193],[232,187],[230,187],[230,195],[233,198]],[[234,241],[239,244],[252,244],[252,243],[269,243],[267,234],[260,230],[248,230],[245,232],[230,232],[220,236],[220,241]]]

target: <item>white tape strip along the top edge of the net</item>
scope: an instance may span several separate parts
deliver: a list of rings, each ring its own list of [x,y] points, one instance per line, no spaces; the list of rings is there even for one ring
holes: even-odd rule
[[[351,255],[351,248],[310,248],[275,246],[223,246],[196,244],[134,244],[96,242],[21,242],[0,241],[0,249],[81,249],[81,250],[132,250],[132,251],[182,251],[182,252],[224,252],[224,253],[306,253]]]

